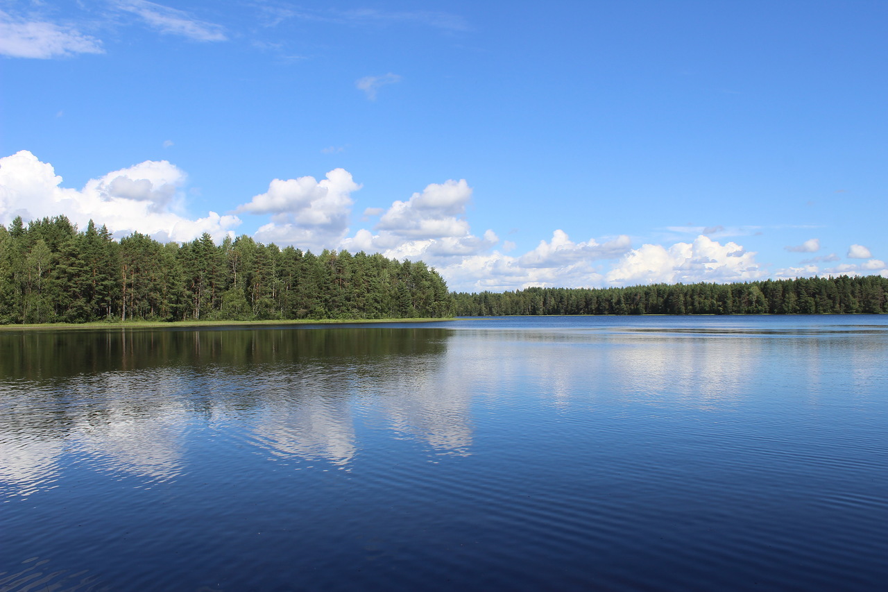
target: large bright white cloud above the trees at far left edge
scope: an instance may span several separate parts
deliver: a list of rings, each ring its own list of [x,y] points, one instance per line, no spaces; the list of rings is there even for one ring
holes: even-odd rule
[[[92,219],[106,224],[116,236],[138,231],[175,241],[191,240],[203,232],[221,240],[241,223],[236,216],[216,212],[197,220],[187,218],[180,192],[185,181],[185,172],[174,164],[149,160],[91,179],[80,190],[63,188],[52,164],[21,150],[0,158],[0,221],[65,215],[82,228]]]

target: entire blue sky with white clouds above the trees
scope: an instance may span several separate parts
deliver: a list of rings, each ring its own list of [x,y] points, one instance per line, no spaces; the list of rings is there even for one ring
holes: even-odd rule
[[[0,0],[0,224],[451,290],[888,276],[888,3]]]

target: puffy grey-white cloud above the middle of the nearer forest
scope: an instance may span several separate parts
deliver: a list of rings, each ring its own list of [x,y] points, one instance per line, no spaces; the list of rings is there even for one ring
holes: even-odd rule
[[[275,179],[266,193],[253,196],[236,211],[271,214],[272,221],[256,234],[261,242],[314,250],[336,248],[348,231],[351,194],[360,188],[345,169],[334,169],[321,181],[309,176]]]

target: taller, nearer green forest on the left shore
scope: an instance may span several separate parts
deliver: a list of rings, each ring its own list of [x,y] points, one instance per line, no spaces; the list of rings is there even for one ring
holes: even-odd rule
[[[375,319],[452,316],[447,284],[421,261],[209,234],[120,241],[90,221],[0,225],[0,324],[100,320]]]

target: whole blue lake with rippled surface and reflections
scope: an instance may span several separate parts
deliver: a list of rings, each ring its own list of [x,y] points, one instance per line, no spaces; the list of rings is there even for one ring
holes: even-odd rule
[[[885,589],[888,318],[0,332],[0,589]]]

